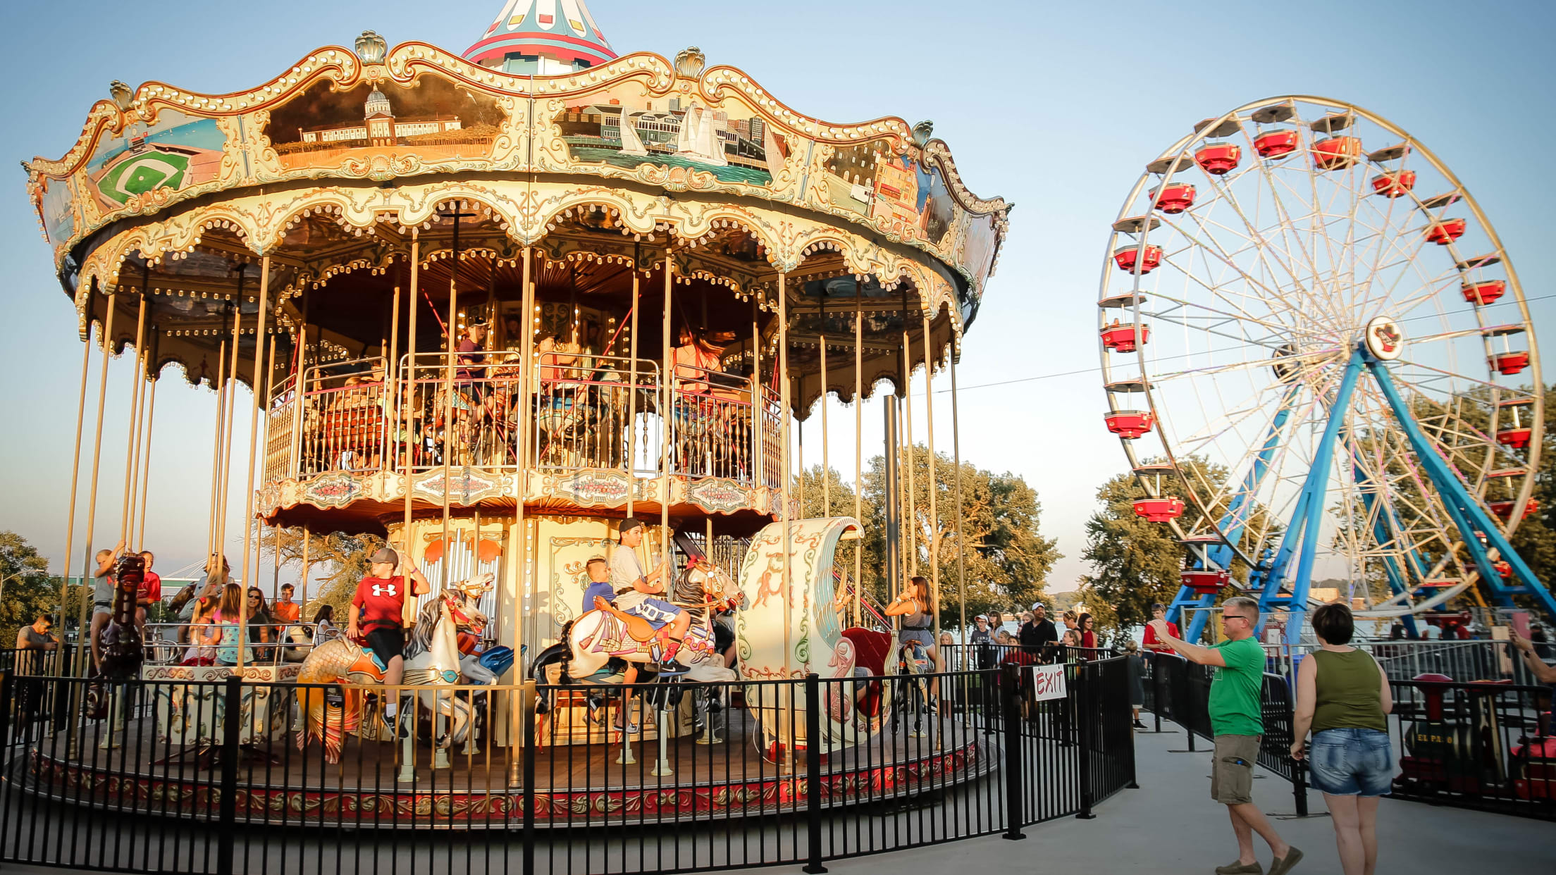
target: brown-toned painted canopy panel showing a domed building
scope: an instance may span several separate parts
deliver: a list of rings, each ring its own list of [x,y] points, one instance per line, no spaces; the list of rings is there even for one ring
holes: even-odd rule
[[[282,167],[297,170],[406,151],[434,160],[484,159],[506,120],[490,95],[426,75],[411,87],[358,83],[333,90],[321,81],[271,111],[265,134]]]

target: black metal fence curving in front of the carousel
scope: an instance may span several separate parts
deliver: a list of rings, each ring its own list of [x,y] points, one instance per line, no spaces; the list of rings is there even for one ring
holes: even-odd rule
[[[3,673],[0,863],[179,875],[818,872],[826,859],[1019,838],[1041,821],[1089,817],[1134,782],[1122,659],[366,691],[184,674],[100,688]],[[398,732],[381,716],[387,701],[400,702]],[[336,744],[316,732],[299,747],[308,727]]]

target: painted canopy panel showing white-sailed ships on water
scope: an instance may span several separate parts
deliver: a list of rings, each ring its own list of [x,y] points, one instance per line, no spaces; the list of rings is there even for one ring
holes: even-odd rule
[[[770,185],[789,154],[787,142],[741,101],[654,97],[640,83],[568,98],[555,123],[580,163],[685,167],[720,182]]]

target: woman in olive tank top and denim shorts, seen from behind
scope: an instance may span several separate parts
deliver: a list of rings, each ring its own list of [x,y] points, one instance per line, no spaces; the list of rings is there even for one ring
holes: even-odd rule
[[[1296,671],[1296,727],[1291,758],[1305,752],[1312,785],[1323,791],[1335,825],[1344,875],[1372,875],[1377,867],[1377,799],[1388,792],[1394,758],[1388,712],[1394,707],[1388,676],[1366,651],[1349,646],[1351,609],[1326,604],[1313,612],[1319,649]]]

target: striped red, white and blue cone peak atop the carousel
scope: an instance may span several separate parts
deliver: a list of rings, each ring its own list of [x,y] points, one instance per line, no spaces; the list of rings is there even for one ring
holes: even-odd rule
[[[520,58],[551,58],[573,69],[594,67],[616,58],[584,0],[507,0],[492,25],[464,59],[507,73],[546,70],[520,69]]]

